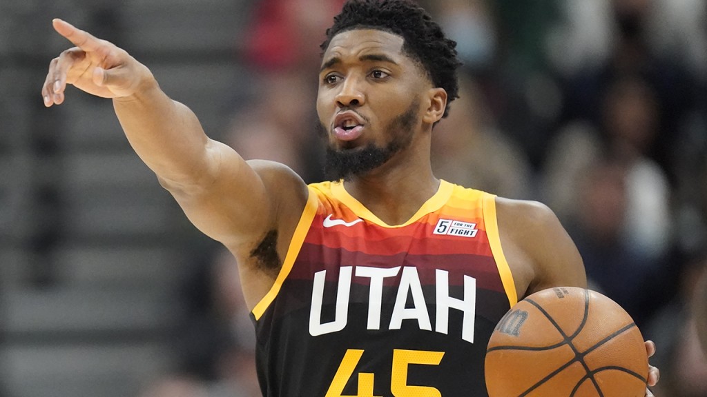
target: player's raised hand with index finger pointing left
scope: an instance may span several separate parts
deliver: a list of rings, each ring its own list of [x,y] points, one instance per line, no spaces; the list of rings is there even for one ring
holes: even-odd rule
[[[42,87],[46,107],[64,102],[66,85],[105,98],[128,97],[153,83],[152,73],[123,49],[100,40],[64,20],[52,20],[54,30],[76,47],[52,59]]]

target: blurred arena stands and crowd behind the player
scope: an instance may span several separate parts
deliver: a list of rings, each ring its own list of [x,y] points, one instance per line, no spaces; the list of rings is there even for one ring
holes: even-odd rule
[[[438,177],[547,203],[592,289],[707,396],[707,3],[426,0],[458,42]],[[108,100],[45,109],[61,17],[149,66],[207,134],[315,182],[320,42],[342,0],[0,1],[0,396],[255,397],[235,262],[129,148]]]

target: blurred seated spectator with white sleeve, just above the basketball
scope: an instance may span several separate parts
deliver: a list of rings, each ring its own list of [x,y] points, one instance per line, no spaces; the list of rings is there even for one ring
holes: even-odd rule
[[[611,81],[597,124],[568,124],[544,168],[544,201],[570,227],[588,278],[638,324],[674,290],[667,283],[648,304],[645,291],[670,275],[674,249],[672,190],[645,154],[658,131],[655,92],[638,76]]]

